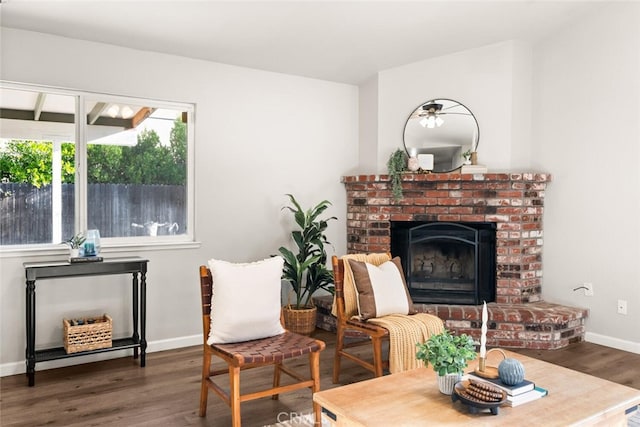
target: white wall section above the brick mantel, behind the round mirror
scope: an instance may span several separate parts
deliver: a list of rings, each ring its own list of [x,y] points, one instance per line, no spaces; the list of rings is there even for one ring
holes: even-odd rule
[[[386,173],[389,155],[403,147],[407,117],[434,98],[455,99],[476,116],[479,163],[494,171],[513,168],[512,151],[529,145],[529,52],[525,43],[506,41],[380,72],[377,172]],[[514,70],[522,74],[514,77]],[[521,155],[515,160],[528,166]]]

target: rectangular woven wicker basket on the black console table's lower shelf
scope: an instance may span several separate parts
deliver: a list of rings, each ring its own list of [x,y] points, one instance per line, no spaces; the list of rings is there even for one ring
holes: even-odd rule
[[[64,349],[67,353],[110,348],[112,346],[113,320],[109,315],[85,317],[80,320],[83,321],[82,325],[75,325],[72,320],[62,319]]]

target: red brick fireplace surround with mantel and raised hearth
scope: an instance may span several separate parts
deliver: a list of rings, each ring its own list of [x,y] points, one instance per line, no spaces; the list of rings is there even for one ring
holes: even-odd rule
[[[542,300],[544,173],[405,174],[395,201],[387,175],[343,177],[347,251],[388,252],[391,222],[495,223],[496,300],[489,346],[555,349],[584,339],[588,311]],[[394,254],[395,255],[395,254]],[[449,329],[480,336],[481,306],[416,304]]]

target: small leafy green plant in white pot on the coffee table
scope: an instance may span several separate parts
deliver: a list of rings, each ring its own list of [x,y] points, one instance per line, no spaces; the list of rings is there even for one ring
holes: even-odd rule
[[[475,344],[470,336],[453,335],[446,329],[416,346],[416,358],[423,361],[425,366],[431,364],[438,374],[438,388],[444,394],[453,392],[468,362],[476,358]]]

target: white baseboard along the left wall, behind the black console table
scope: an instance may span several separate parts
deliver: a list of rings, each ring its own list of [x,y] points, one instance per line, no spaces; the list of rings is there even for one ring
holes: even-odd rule
[[[176,348],[191,347],[194,345],[202,344],[202,335],[192,335],[188,337],[171,338],[166,340],[150,341],[147,343],[147,353],[154,353],[157,351],[173,350]],[[117,359],[120,357],[130,356],[131,349],[127,350],[115,350],[105,353],[90,354],[87,356],[69,357],[67,359],[50,360],[47,362],[40,362],[36,365],[36,372],[43,371],[45,369],[62,368],[65,366],[78,365],[80,363],[98,362],[101,360]],[[3,363],[0,365],[0,377],[6,377],[9,375],[24,374],[27,371],[27,366],[24,360],[19,362]]]

